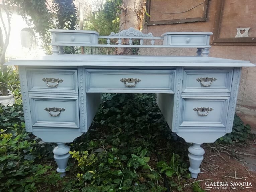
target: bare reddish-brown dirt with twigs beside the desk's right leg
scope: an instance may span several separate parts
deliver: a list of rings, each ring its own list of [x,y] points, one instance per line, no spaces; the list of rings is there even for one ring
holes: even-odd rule
[[[212,192],[256,191],[256,143],[254,140],[248,141],[246,146],[218,146],[214,148],[206,144],[202,147],[205,150],[205,155],[201,164],[201,173],[197,178],[202,189]],[[215,183],[215,186],[206,186],[205,182],[207,182],[206,184],[225,182],[223,183],[225,188],[216,186],[218,183]],[[237,182],[246,182],[247,186],[242,186]]]

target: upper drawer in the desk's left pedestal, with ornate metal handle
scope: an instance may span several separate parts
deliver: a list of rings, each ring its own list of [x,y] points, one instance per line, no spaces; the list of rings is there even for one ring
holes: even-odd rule
[[[78,93],[76,70],[28,69],[27,74],[29,91]]]

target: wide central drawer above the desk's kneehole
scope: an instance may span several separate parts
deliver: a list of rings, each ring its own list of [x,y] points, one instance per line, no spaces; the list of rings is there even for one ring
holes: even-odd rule
[[[87,92],[173,93],[175,70],[86,70]]]

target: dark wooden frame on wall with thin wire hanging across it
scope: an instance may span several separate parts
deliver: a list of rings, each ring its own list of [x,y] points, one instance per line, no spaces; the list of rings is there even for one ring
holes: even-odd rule
[[[147,13],[150,15],[150,4],[151,0],[147,1]],[[202,17],[193,17],[193,18],[179,18],[179,19],[170,19],[170,20],[160,20],[160,21],[150,21],[150,17],[146,15],[146,25],[162,25],[162,24],[174,24],[174,23],[187,23],[187,22],[197,22],[197,21],[206,21],[206,12],[207,12],[208,0],[203,2]]]

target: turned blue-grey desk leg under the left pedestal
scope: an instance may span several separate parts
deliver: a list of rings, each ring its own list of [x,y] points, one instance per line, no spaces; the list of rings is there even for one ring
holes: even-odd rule
[[[54,159],[58,165],[57,172],[61,173],[61,177],[64,177],[70,156],[70,148],[65,143],[57,143],[57,145],[58,146],[53,150]]]

